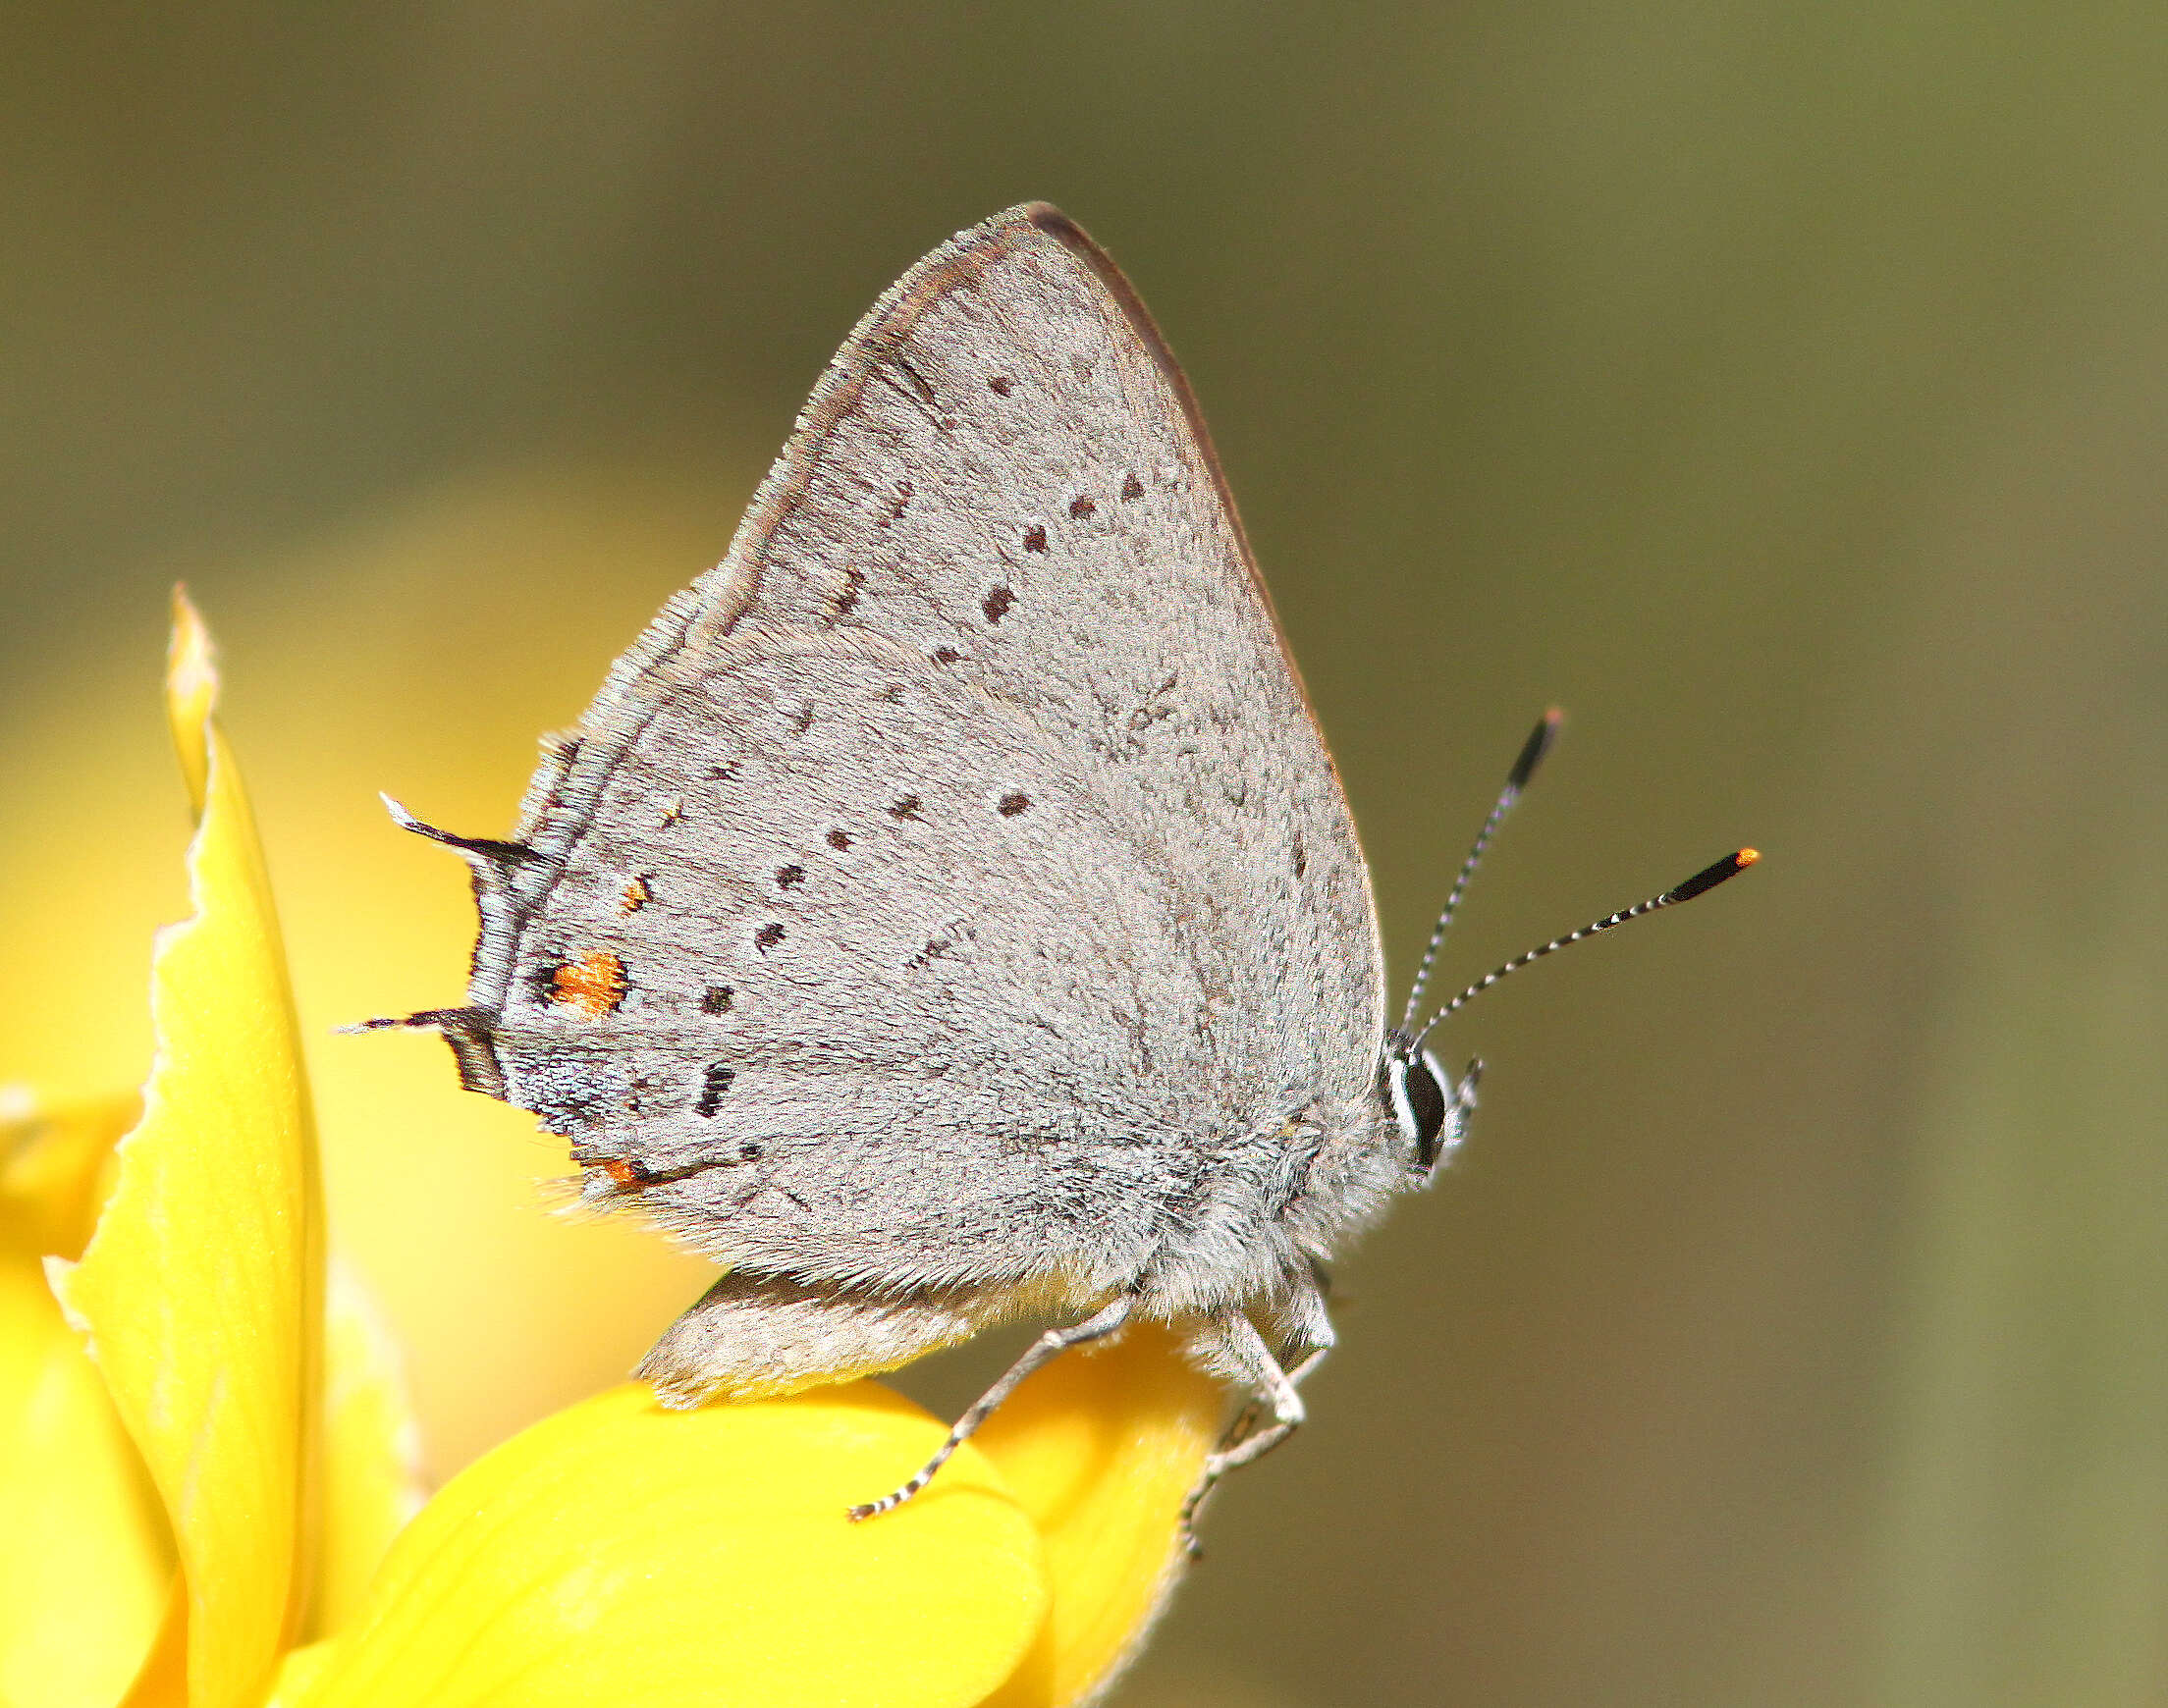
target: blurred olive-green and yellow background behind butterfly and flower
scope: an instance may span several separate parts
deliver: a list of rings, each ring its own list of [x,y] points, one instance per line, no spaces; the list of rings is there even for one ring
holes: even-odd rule
[[[1049,197],[1190,366],[1396,980],[1546,702],[1442,1188],[1121,1699],[2168,1697],[2168,28],[2112,4],[199,4],[0,54],[0,1077],[132,1084],[223,644],[438,1470],[700,1285],[425,1038],[457,865],[828,351]],[[937,1398],[969,1372],[934,1370]]]

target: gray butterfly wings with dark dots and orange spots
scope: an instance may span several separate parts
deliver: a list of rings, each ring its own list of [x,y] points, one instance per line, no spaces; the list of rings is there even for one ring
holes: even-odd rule
[[[856,327],[516,841],[466,1082],[733,1266],[1125,1285],[1375,1084],[1331,761],[1179,368],[1045,206]]]

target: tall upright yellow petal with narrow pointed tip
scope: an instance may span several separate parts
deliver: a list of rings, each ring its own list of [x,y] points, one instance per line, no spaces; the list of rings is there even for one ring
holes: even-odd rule
[[[210,702],[208,644],[180,603],[169,713],[202,789],[195,915],[160,932],[152,962],[143,1121],[82,1261],[54,1274],[173,1526],[191,1708],[258,1699],[297,1626],[323,1320],[293,997]]]

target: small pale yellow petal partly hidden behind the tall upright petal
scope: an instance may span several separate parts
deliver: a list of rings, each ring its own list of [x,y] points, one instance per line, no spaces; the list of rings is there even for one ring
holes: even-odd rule
[[[421,1452],[399,1346],[360,1279],[334,1261],[325,1322],[323,1543],[308,1632],[347,1626],[421,1511]]]

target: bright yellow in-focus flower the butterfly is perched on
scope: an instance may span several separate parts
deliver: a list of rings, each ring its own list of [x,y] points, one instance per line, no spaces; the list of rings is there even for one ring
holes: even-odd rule
[[[843,1509],[943,1433],[874,1383],[692,1413],[622,1385],[421,1504],[395,1350],[325,1264],[284,954],[215,694],[178,603],[193,917],[158,941],[141,1114],[0,1101],[0,1701],[1023,1708],[1101,1688],[1173,1578],[1218,1409],[1162,1333],[1056,1363],[872,1524]]]

